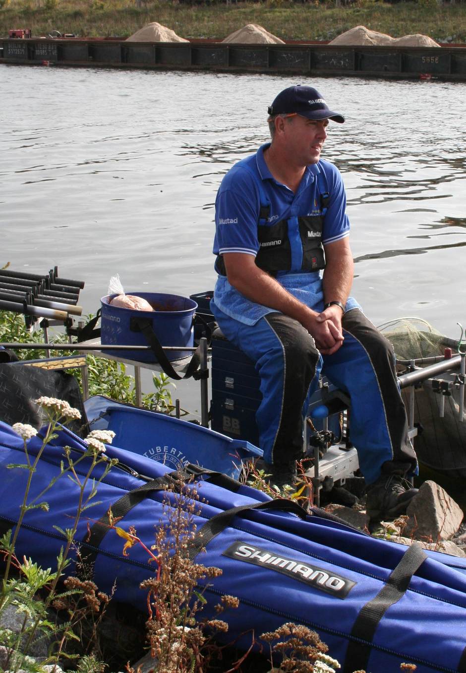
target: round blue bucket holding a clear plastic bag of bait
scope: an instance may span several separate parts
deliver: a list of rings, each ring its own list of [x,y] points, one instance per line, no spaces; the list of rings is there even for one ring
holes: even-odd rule
[[[102,297],[100,316],[100,343],[119,346],[147,346],[144,334],[134,332],[130,327],[131,318],[152,320],[152,328],[161,346],[192,346],[194,344],[193,318],[198,305],[188,297],[154,292],[127,292],[128,295],[143,297],[153,307],[153,312],[136,311],[110,302],[117,295]],[[112,355],[137,360],[157,362],[152,351],[111,351]],[[165,351],[169,360],[178,360],[192,355],[191,351]]]

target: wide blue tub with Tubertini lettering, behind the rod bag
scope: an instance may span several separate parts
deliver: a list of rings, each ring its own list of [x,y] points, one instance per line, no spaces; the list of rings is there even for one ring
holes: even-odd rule
[[[193,463],[238,479],[242,463],[262,456],[243,439],[230,439],[201,425],[137,409],[95,395],[84,402],[92,430],[113,430],[112,444],[157,460],[173,470]]]

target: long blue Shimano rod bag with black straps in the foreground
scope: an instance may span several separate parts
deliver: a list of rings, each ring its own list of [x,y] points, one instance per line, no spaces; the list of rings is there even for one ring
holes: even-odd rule
[[[37,455],[41,446],[40,437],[33,437],[28,454]],[[64,446],[71,448],[73,459],[82,459],[83,440],[61,431],[41,454],[31,499],[59,475]],[[163,501],[176,497],[165,490],[174,480],[169,468],[145,456],[112,446],[106,455],[118,464],[98,483],[97,504],[85,511],[75,539],[100,590],[110,592],[115,583],[115,600],[145,610],[147,594],[139,584],[155,568],[139,545],[123,555],[122,540],[108,526],[107,512],[111,508],[121,517],[118,526],[125,530],[134,526],[150,546],[167,516]],[[87,474],[88,460],[79,462],[78,475]],[[1,532],[15,527],[28,479],[28,470],[8,466],[25,462],[23,440],[0,423]],[[95,467],[95,479],[102,470],[102,465]],[[237,639],[247,648],[253,631],[258,637],[295,622],[319,633],[344,673],[395,673],[402,662],[416,664],[416,673],[466,673],[465,559],[371,538],[321,510],[308,514],[293,501],[271,500],[196,466],[186,468],[187,480],[190,472],[197,473],[200,495],[190,556],[223,571],[208,580],[201,614],[214,614],[223,594],[240,602],[237,610],[222,616],[229,623],[227,641]],[[26,512],[17,557],[26,555],[43,567],[54,567],[65,544],[55,526],[69,528],[77,498],[73,481],[56,479],[40,495],[48,511]]]

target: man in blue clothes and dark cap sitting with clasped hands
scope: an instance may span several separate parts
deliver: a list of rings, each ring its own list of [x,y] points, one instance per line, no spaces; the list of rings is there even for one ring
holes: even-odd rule
[[[351,438],[371,518],[405,511],[417,466],[389,342],[349,296],[353,260],[342,176],[321,159],[329,110],[292,86],[268,108],[271,143],[235,164],[215,202],[219,278],[212,311],[256,363],[256,420],[266,470],[293,484],[303,417],[322,371],[351,399]]]

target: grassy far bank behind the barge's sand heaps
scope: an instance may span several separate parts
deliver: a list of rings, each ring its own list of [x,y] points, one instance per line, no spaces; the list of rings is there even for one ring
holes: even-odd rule
[[[32,28],[34,36],[59,30],[79,36],[128,37],[157,21],[185,38],[222,40],[245,24],[254,23],[284,40],[332,40],[362,24],[393,37],[422,33],[441,42],[447,38],[466,42],[466,3],[439,5],[436,0],[394,5],[356,0],[351,7],[319,0],[229,5],[155,0],[142,7],[135,7],[132,0],[0,0],[0,7],[0,35],[12,28]]]

